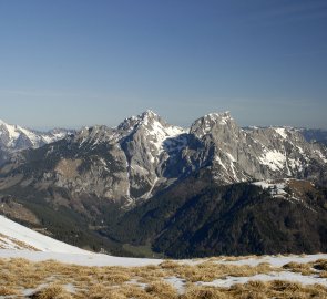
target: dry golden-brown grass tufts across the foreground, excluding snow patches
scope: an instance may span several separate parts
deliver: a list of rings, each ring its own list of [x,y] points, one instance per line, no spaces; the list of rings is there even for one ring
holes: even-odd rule
[[[193,298],[327,298],[327,289],[321,286],[302,286],[285,281],[251,281],[231,288],[197,286],[196,281],[213,281],[226,276],[249,277],[257,274],[292,270],[309,274],[313,267],[326,275],[327,260],[310,264],[290,262],[284,268],[273,268],[269,264],[256,267],[217,264],[216,259],[203,262],[182,264],[166,260],[159,266],[145,267],[82,267],[60,264],[54,260],[31,262],[25,259],[0,259],[1,295],[17,295],[23,289],[39,289],[34,299],[193,299]],[[185,281],[185,293],[177,290],[165,278],[177,277]],[[65,286],[71,283],[74,292]],[[144,283],[144,285],[140,285]],[[12,292],[12,293],[9,293]]]

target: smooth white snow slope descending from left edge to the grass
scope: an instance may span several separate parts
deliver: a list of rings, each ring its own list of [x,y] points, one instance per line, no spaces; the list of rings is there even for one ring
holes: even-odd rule
[[[54,259],[80,266],[157,265],[157,259],[122,258],[94,254],[55,240],[0,215],[0,258],[25,258],[31,261]]]

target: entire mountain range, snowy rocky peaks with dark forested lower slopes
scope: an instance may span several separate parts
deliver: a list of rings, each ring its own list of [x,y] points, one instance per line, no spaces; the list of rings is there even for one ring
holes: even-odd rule
[[[152,111],[113,128],[0,130],[2,208],[71,244],[173,257],[326,250],[327,148],[308,131],[242,128],[228,112],[185,130]]]

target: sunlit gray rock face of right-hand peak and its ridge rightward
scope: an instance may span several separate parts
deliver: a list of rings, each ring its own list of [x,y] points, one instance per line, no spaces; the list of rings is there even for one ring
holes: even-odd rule
[[[243,130],[229,113],[223,113],[195,121],[190,133],[203,144],[213,144],[212,169],[222,183],[283,177],[326,183],[326,150],[306,142],[297,130]]]

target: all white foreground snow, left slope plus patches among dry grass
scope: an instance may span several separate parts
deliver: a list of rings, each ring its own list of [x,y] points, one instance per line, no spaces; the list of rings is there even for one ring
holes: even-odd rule
[[[30,247],[29,247],[30,246]],[[146,258],[124,258],[113,257],[109,255],[94,254],[82,250],[74,246],[54,240],[48,236],[33,231],[24,226],[0,216],[0,258],[24,258],[30,261],[57,260],[63,264],[73,264],[79,266],[121,266],[121,267],[141,267],[147,265],[160,265],[161,259]],[[29,250],[27,250],[27,248]],[[284,265],[289,262],[308,264],[317,260],[326,259],[327,254],[318,255],[288,255],[288,256],[251,256],[235,258],[214,258],[214,259],[195,259],[195,260],[178,260],[173,261],[186,267],[197,267],[200,264],[210,261],[214,265],[231,265],[231,266],[251,266],[257,267],[259,264],[268,262],[273,268],[270,271],[256,274],[253,276],[225,276],[216,277],[212,281],[193,281],[194,286],[200,287],[223,287],[229,288],[235,283],[246,283],[248,281],[274,281],[283,280],[289,282],[299,282],[302,285],[315,285],[327,287],[327,278],[320,276],[320,271],[313,269],[309,275],[294,272]],[[161,267],[161,265],[160,265]],[[174,266],[175,267],[175,266]],[[279,268],[279,269],[278,269]],[[124,268],[122,268],[124,269]],[[276,271],[277,269],[277,271]],[[163,270],[165,270],[163,268]],[[129,271],[127,271],[129,272]],[[164,281],[170,283],[178,293],[184,293],[187,289],[187,281],[177,276],[175,271],[168,271],[167,276],[163,277]],[[132,282],[135,278],[132,278]],[[136,280],[135,280],[136,281]],[[130,282],[130,283],[132,283]],[[188,281],[190,282],[190,281]],[[135,282],[139,287],[145,288],[146,283]]]

